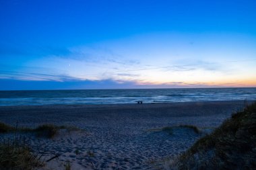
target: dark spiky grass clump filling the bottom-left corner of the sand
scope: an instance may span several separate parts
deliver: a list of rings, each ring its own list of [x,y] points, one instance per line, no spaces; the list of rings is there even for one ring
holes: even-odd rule
[[[34,169],[42,167],[41,155],[33,153],[26,140],[21,138],[1,140],[0,169]]]

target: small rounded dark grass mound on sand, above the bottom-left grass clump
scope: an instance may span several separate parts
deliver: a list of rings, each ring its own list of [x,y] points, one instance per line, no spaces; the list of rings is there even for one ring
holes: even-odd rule
[[[54,124],[42,124],[34,129],[34,132],[36,132],[36,136],[39,137],[53,138],[58,134],[59,129],[59,126]]]

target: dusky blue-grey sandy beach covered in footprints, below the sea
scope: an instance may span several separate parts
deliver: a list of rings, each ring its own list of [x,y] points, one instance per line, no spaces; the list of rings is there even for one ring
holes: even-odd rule
[[[154,169],[244,106],[244,101],[1,106],[0,121],[30,128],[40,124],[79,128],[51,139],[30,136],[44,157],[58,156],[42,169],[63,169],[67,162],[71,169]],[[184,125],[197,126],[200,132]],[[164,127],[172,127],[172,133]]]

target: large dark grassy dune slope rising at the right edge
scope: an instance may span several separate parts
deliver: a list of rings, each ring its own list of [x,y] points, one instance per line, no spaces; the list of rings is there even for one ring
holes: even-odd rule
[[[256,102],[200,138],[177,169],[256,169]]]

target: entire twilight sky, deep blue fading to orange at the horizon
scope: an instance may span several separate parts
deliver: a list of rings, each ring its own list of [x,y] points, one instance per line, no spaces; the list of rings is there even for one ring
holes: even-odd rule
[[[256,87],[254,0],[0,0],[0,90]]]

